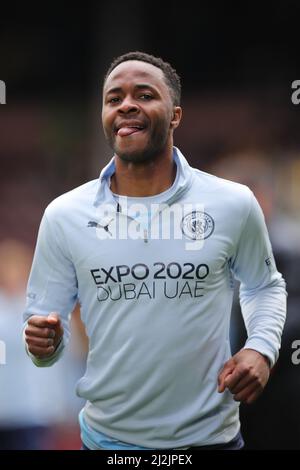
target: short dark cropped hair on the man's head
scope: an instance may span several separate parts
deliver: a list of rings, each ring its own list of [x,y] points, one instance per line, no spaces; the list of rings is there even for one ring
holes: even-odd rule
[[[161,69],[164,74],[166,84],[170,89],[173,104],[175,106],[180,105],[181,82],[176,70],[173,69],[173,67],[168,62],[165,62],[160,57],[155,57],[153,55],[147,54],[146,52],[127,52],[126,54],[116,57],[108,67],[108,70],[104,76],[104,83],[106,82],[108,75],[113,71],[114,68],[117,67],[117,65],[121,64],[122,62],[127,62],[128,60],[140,60],[141,62],[147,62],[148,64],[152,64],[155,67]]]

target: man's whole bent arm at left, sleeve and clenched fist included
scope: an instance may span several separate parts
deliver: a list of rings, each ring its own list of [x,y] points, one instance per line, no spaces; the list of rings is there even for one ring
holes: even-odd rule
[[[71,254],[50,205],[39,230],[24,312],[23,338],[35,365],[50,366],[61,356],[69,339],[69,315],[76,300]]]

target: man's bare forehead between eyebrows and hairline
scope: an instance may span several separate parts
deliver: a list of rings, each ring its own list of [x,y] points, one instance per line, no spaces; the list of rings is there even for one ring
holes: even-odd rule
[[[139,60],[128,60],[117,65],[106,79],[104,93],[110,88],[148,83],[159,90],[168,91],[163,71],[155,65]]]

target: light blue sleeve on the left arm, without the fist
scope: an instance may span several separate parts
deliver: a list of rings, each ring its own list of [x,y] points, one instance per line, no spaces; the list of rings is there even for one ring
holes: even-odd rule
[[[32,315],[50,312],[60,314],[64,337],[56,351],[47,359],[38,359],[27,350],[35,365],[54,364],[67,344],[69,316],[77,300],[76,273],[68,252],[63,232],[57,223],[55,211],[49,206],[41,221],[33,264],[27,286],[27,303],[23,314],[25,325]]]

